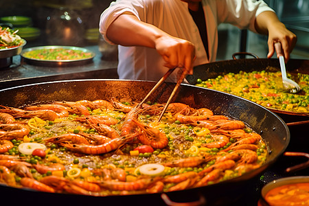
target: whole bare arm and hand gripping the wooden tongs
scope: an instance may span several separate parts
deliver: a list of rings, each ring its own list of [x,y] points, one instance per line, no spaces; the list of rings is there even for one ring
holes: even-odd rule
[[[193,73],[195,47],[190,41],[170,36],[154,25],[139,21],[133,14],[118,16],[106,30],[106,37],[123,46],[143,46],[157,50],[165,60],[165,67],[180,67]]]

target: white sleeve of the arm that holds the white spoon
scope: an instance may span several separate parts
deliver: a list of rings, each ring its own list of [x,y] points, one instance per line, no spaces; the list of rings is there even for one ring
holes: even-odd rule
[[[262,0],[217,1],[218,23],[231,23],[240,29],[255,30],[255,18],[265,11],[275,12]]]

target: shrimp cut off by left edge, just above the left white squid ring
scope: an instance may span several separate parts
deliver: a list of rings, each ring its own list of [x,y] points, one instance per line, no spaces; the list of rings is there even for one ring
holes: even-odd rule
[[[30,133],[30,128],[23,124],[0,124],[1,139],[23,139]]]

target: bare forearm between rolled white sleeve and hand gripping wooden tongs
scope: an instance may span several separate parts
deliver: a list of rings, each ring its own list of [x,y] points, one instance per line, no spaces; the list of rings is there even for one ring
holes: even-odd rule
[[[155,41],[168,35],[154,25],[139,21],[133,14],[120,15],[106,31],[106,37],[123,46],[144,46],[155,48]]]

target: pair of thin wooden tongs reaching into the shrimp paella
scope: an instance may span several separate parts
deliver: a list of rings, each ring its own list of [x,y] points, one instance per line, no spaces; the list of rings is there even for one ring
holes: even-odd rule
[[[169,69],[168,72],[165,73],[165,75],[157,82],[157,84],[155,85],[155,87],[153,87],[150,92],[146,95],[146,97],[144,98],[144,100],[142,100],[137,106],[141,106],[141,104],[144,104],[144,102],[147,100],[147,98],[154,92],[156,91],[160,85],[170,76],[170,74],[176,69]],[[161,118],[163,117],[163,114],[165,113],[166,109],[168,108],[168,104],[170,104],[170,101],[172,100],[172,98],[174,97],[176,91],[179,89],[179,86],[181,84],[181,82],[183,82],[183,80],[185,79],[185,76],[187,75],[187,71],[185,69],[183,69],[183,73],[181,73],[181,77],[179,78],[179,80],[176,83],[176,86],[174,87],[174,90],[172,91],[172,93],[170,94],[170,98],[168,98],[168,102],[166,102],[163,111],[158,119],[158,122],[161,120]]]

